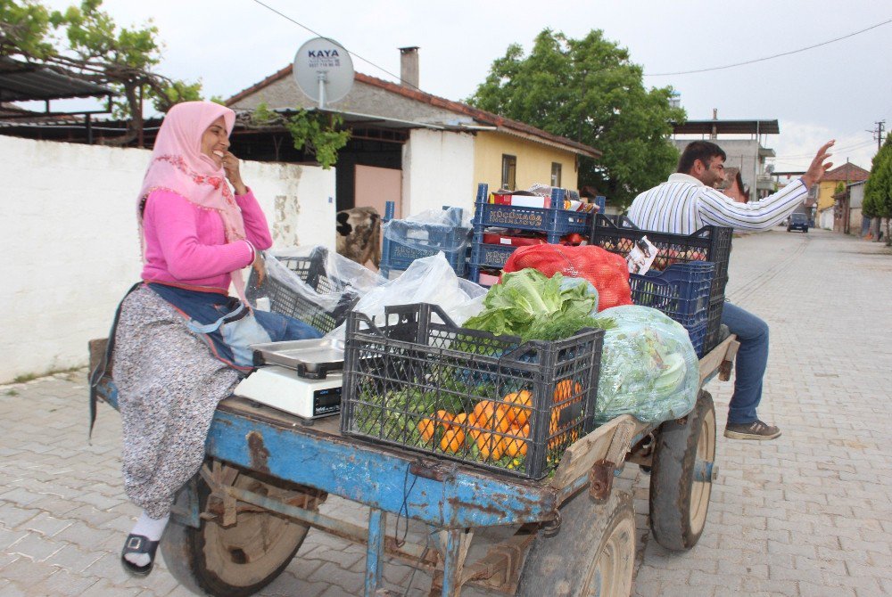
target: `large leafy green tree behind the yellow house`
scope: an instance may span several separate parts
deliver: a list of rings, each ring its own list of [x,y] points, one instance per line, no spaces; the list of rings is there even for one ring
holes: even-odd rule
[[[629,52],[592,30],[582,39],[543,29],[528,56],[508,46],[467,102],[566,136],[603,152],[582,158],[579,184],[591,184],[618,206],[665,181],[678,160],[669,143],[671,87],[645,89]]]

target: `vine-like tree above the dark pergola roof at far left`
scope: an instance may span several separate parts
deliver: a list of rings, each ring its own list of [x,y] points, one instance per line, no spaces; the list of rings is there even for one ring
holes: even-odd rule
[[[118,140],[126,144],[142,130],[144,97],[166,112],[177,102],[201,99],[201,83],[154,72],[161,61],[158,29],[119,28],[101,5],[102,0],[84,0],[61,12],[37,0],[0,0],[0,55],[67,70],[118,91],[122,99],[113,101],[113,111],[129,119],[128,135]]]

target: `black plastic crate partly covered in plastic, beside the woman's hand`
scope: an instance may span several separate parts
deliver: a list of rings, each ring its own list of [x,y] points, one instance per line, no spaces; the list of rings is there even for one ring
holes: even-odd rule
[[[333,309],[324,309],[284,282],[279,282],[269,275],[258,286],[256,273],[253,269],[248,283],[245,285],[245,297],[251,302],[256,302],[260,297],[268,297],[270,311],[288,315],[303,323],[309,323],[322,333],[332,331],[343,323],[347,313],[359,300],[359,295],[355,291],[347,289],[343,282],[330,278],[326,274],[327,259],[328,251],[322,247],[314,249],[308,257],[277,258],[279,263],[298,274],[303,282],[307,282],[307,285],[319,294],[341,292],[341,298]]]

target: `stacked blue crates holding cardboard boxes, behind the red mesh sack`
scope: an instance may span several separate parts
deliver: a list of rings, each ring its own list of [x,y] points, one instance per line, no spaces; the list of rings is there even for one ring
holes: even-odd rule
[[[507,228],[544,233],[550,244],[560,242],[562,236],[570,233],[588,234],[591,228],[591,212],[567,211],[563,209],[566,192],[552,189],[549,208],[527,208],[516,205],[489,203],[489,185],[477,185],[475,200],[474,240],[471,245],[471,262],[468,280],[488,285],[480,280],[481,269],[500,270],[517,246],[514,244],[493,244],[484,240],[491,228]]]

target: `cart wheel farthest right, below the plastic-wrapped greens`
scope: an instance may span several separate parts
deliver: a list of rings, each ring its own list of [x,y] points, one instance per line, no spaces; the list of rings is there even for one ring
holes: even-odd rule
[[[650,473],[650,529],[657,543],[674,551],[697,544],[706,527],[713,488],[715,408],[701,389],[683,420],[666,421],[657,435]]]

